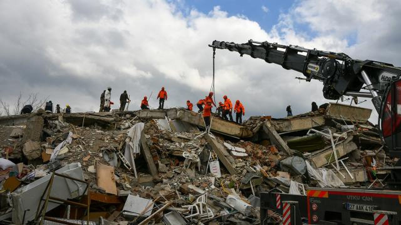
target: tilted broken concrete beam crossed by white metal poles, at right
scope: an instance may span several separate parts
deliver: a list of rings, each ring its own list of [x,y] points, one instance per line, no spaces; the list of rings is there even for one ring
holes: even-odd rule
[[[337,153],[337,158],[340,159],[344,155],[358,149],[356,144],[352,141],[353,136],[348,137],[344,141],[341,141],[337,143],[336,147],[336,153]],[[331,156],[331,158],[330,158]],[[327,165],[329,163],[335,162],[334,158],[334,153],[333,153],[333,148],[330,145],[329,147],[326,147],[320,151],[314,152],[312,155],[310,155],[309,159],[314,163],[314,165],[319,168],[324,165]]]

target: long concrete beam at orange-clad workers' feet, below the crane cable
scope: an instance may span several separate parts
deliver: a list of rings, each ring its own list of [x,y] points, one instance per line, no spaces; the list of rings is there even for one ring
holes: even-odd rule
[[[203,121],[202,115],[197,112],[184,109],[177,110],[177,119],[196,125],[198,127],[205,127],[205,122]],[[211,131],[238,138],[247,138],[253,136],[252,131],[242,125],[222,120],[217,117],[211,117],[211,119]]]

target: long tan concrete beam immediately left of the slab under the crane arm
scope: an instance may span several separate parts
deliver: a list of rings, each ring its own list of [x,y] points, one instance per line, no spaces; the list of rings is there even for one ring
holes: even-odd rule
[[[304,117],[304,118],[294,118],[287,120],[274,121],[277,125],[276,130],[278,133],[289,132],[289,131],[299,131],[305,129],[311,129],[312,127],[319,127],[324,125],[324,117]]]

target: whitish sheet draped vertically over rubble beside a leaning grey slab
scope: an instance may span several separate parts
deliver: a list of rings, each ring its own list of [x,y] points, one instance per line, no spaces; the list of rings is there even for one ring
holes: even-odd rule
[[[132,126],[127,132],[126,147],[124,151],[124,157],[130,163],[131,167],[134,168],[134,159],[136,154],[141,152],[141,133],[144,129],[144,123],[137,123]]]

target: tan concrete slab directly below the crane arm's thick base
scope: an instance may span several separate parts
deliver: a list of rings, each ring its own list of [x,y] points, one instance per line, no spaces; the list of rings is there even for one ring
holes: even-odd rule
[[[370,108],[361,108],[345,104],[330,103],[326,109],[326,116],[339,120],[366,122],[371,117]]]

